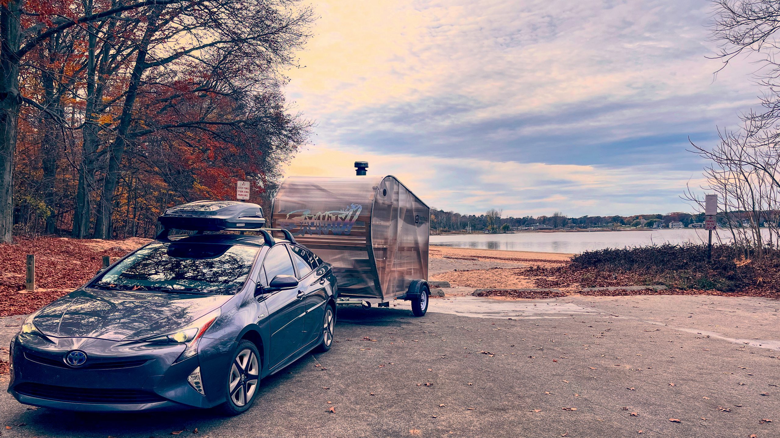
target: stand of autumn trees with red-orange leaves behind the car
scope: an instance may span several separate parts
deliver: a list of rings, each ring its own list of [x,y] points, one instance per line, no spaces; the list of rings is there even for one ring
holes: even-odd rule
[[[6,242],[14,226],[150,235],[165,207],[237,179],[262,200],[307,141],[282,94],[313,20],[296,0],[0,0],[0,15]]]

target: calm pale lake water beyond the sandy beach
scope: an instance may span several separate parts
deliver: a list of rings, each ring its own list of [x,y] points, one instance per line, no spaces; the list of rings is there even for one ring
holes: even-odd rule
[[[765,230],[762,230],[765,231]],[[728,230],[716,233],[729,238]],[[431,245],[474,249],[504,249],[509,251],[539,251],[542,253],[582,253],[593,249],[625,248],[626,246],[661,245],[662,243],[707,242],[702,229],[655,231],[572,231],[519,232],[510,234],[431,235]]]

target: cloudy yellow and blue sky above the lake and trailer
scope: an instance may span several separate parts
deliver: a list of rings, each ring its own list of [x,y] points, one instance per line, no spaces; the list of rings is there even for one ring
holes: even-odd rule
[[[717,78],[705,0],[317,2],[287,94],[317,122],[287,175],[398,176],[431,207],[569,216],[690,211],[686,152],[757,103]]]

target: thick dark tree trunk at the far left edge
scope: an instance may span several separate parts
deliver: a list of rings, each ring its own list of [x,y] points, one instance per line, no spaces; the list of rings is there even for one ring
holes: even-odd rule
[[[19,119],[20,15],[22,0],[0,6],[0,242],[12,241],[13,157]]]

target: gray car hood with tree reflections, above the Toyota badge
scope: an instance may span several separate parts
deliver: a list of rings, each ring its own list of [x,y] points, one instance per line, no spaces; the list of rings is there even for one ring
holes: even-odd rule
[[[54,337],[134,341],[178,330],[231,297],[79,289],[41,309],[33,323]]]

